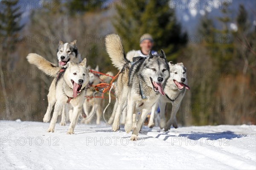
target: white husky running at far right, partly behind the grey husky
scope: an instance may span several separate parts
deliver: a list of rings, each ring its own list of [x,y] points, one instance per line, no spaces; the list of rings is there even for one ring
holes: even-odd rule
[[[164,128],[165,131],[169,130],[171,126],[177,128],[176,113],[180,108],[180,103],[185,95],[186,89],[189,90],[186,78],[186,68],[183,63],[173,64],[169,62],[170,77],[166,82],[164,89],[165,95],[160,96],[158,102],[152,107],[151,116],[149,119],[148,127],[154,126],[154,113],[157,110],[157,106],[160,107],[160,128]],[[165,109],[166,103],[172,103],[172,114],[171,118],[166,123]]]

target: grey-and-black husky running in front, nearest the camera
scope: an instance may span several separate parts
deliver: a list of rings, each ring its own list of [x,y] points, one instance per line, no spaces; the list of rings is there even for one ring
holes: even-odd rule
[[[107,35],[105,45],[113,65],[120,71],[116,83],[116,98],[120,105],[116,110],[112,130],[118,129],[120,114],[126,109],[125,131],[129,133],[134,126],[131,140],[137,140],[147,113],[150,112],[160,94],[164,95],[163,88],[170,76],[166,56],[163,50],[159,55],[152,55],[149,52],[148,58],[140,57],[131,63],[125,57],[122,42],[118,35]],[[141,114],[135,125],[137,110]]]

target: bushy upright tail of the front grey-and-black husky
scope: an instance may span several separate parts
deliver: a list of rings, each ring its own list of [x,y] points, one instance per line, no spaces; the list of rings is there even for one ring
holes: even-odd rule
[[[117,34],[109,34],[105,37],[105,45],[113,65],[121,71],[124,65],[129,62],[125,57],[121,38]]]

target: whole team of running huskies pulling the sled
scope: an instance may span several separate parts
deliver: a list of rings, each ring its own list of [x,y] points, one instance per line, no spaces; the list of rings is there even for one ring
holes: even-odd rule
[[[166,61],[164,51],[159,54],[149,54],[147,57],[140,57],[136,51],[130,51],[125,55],[122,41],[117,34],[109,34],[105,37],[105,47],[113,65],[118,69],[119,75],[114,83],[116,109],[113,110],[109,123],[112,130],[119,129],[120,116],[126,116],[125,131],[132,130],[131,140],[137,140],[138,134],[143,126],[146,116],[151,112],[148,127],[154,126],[154,113],[157,107],[160,108],[160,128],[169,130],[171,125],[177,128],[176,113],[179,107],[172,110],[171,118],[165,119],[166,103],[180,105],[189,90],[186,79],[186,68],[183,63],[173,64]],[[85,98],[92,96],[94,85],[100,82],[110,82],[110,78],[101,77],[89,71],[86,58],[81,55],[76,47],[76,40],[70,43],[59,42],[57,50],[58,65],[47,61],[38,54],[28,54],[29,63],[36,65],[40,70],[50,77],[54,77],[47,95],[48,108],[44,115],[44,122],[49,122],[52,108],[55,105],[58,109],[53,110],[47,132],[54,132],[57,117],[61,115],[60,125],[66,125],[69,117],[70,126],[67,133],[73,134],[82,109],[86,114],[81,122],[89,123],[94,112],[97,115],[96,123],[100,123],[102,116],[100,98]],[[96,67],[95,71],[99,71]],[[111,76],[112,73],[107,73]],[[92,104],[90,113],[87,103]],[[140,113],[137,117],[137,113]],[[69,113],[66,115],[66,113]]]

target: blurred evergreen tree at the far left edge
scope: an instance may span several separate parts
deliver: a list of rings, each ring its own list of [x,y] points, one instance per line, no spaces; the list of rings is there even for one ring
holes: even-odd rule
[[[0,37],[3,38],[0,47],[0,85],[1,85],[1,101],[6,101],[10,103],[8,99],[6,86],[12,85],[12,79],[2,74],[3,69],[10,69],[10,61],[13,61],[11,52],[15,50],[15,44],[17,43],[17,33],[23,26],[20,26],[20,18],[22,12],[19,11],[17,7],[18,0],[0,1],[1,11],[0,11]],[[3,95],[3,96],[2,96]],[[2,100],[3,99],[3,100]],[[10,111],[9,108],[6,110],[6,117],[9,118]]]

